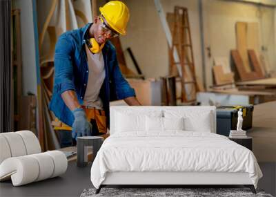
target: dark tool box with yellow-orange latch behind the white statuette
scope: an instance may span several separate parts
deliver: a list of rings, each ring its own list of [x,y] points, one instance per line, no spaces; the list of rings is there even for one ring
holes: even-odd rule
[[[217,134],[229,135],[230,130],[237,129],[237,112],[242,109],[244,118],[242,129],[248,130],[252,128],[253,121],[253,104],[244,106],[218,106],[217,107]]]

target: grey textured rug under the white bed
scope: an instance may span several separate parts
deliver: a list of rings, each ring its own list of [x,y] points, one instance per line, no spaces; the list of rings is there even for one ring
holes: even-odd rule
[[[257,190],[257,194],[253,194],[248,188],[102,188],[99,194],[95,194],[96,189],[84,189],[81,197],[92,196],[265,196],[273,197],[265,194],[262,190]]]

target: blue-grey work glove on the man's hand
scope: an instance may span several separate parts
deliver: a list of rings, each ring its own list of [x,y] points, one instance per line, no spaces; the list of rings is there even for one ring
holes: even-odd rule
[[[86,113],[81,108],[72,111],[75,120],[72,124],[72,138],[91,135],[92,124],[88,122]]]

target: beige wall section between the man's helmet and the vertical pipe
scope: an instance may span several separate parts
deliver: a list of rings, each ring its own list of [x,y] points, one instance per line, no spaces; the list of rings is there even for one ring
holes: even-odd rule
[[[125,2],[130,9],[130,21],[128,34],[121,37],[123,50],[126,50],[127,47],[132,49],[141,71],[146,77],[168,75],[168,44],[154,0],[126,0]],[[174,6],[188,8],[195,68],[197,75],[201,77],[201,44],[197,2],[195,0],[163,0],[161,5],[164,12],[173,12]],[[125,52],[125,56],[128,66],[132,68],[132,71],[136,71],[128,53]]]

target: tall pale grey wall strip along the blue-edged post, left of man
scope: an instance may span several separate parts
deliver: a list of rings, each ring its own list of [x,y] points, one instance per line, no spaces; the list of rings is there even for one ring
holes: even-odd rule
[[[14,0],[12,8],[21,10],[21,53],[23,70],[23,95],[37,95],[37,68],[34,45],[32,0]]]

